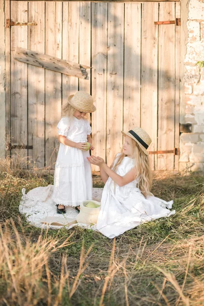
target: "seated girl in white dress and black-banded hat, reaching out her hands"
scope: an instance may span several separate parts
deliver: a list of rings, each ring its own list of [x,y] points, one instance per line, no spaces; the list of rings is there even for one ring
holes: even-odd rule
[[[88,157],[88,161],[100,167],[104,183],[96,228],[109,238],[161,217],[175,213],[170,211],[173,201],[166,202],[150,193],[151,171],[147,148],[149,135],[140,127],[128,133],[122,132],[125,141],[109,168],[100,157]]]

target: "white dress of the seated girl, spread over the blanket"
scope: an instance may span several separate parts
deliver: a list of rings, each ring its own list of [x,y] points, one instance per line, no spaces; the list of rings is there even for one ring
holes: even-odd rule
[[[116,159],[118,156],[119,154]],[[124,176],[133,167],[134,160],[124,157],[116,173]],[[154,196],[145,198],[136,187],[137,183],[138,179],[119,187],[109,177],[102,194],[101,210],[96,224],[100,233],[114,238],[144,221],[168,217],[175,213],[169,210],[173,201],[166,202]]]

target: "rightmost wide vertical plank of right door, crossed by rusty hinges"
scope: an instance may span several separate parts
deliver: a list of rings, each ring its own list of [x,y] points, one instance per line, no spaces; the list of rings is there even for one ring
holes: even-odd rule
[[[174,3],[161,3],[159,21],[175,19]],[[175,25],[159,27],[159,95],[158,95],[158,150],[174,147],[175,115]],[[158,155],[158,170],[171,170],[173,154]]]

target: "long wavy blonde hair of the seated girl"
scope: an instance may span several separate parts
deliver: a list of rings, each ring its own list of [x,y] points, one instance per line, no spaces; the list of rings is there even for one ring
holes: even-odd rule
[[[151,179],[151,170],[150,170],[150,162],[149,162],[149,156],[146,155],[140,146],[137,144],[135,140],[131,139],[131,146],[132,146],[132,157],[135,161],[135,167],[136,167],[136,175],[135,179],[137,177],[139,178],[138,182],[138,188],[142,192],[144,196],[151,195],[151,185],[152,185],[152,179]],[[121,155],[119,156],[116,164],[113,167],[113,164],[111,165],[111,168],[113,171],[116,171],[118,166],[121,164],[123,158],[125,157],[125,154],[123,152],[123,148],[121,149]]]

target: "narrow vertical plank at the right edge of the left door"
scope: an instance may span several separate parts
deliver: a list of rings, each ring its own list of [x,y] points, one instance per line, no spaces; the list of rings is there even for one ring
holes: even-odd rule
[[[79,61],[91,66],[91,4],[89,1],[82,1],[79,6]],[[79,90],[90,93],[91,72],[90,70],[87,72],[87,80],[79,80]]]

